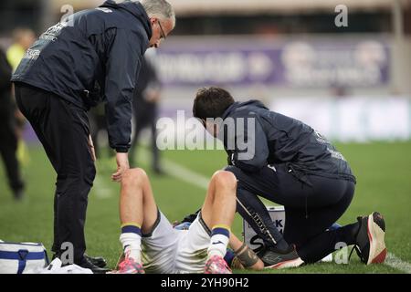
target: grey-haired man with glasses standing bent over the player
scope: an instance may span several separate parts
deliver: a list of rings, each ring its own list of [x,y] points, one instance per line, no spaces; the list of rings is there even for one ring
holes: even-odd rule
[[[94,272],[104,271],[84,256],[88,194],[96,172],[86,111],[106,104],[110,145],[117,151],[111,179],[120,182],[129,169],[136,72],[145,50],[159,47],[174,25],[173,7],[165,0],[106,1],[48,28],[12,78],[17,104],[58,173],[53,251],[62,255],[61,245],[71,243],[74,263]]]

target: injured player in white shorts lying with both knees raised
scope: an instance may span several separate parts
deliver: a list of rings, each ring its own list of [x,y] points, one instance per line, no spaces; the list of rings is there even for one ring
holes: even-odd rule
[[[236,213],[237,179],[216,172],[201,212],[187,230],[174,228],[158,209],[147,174],[127,171],[121,179],[120,241],[123,255],[114,274],[230,274],[224,259],[227,245],[235,251],[236,268],[262,269],[258,256],[230,232]]]

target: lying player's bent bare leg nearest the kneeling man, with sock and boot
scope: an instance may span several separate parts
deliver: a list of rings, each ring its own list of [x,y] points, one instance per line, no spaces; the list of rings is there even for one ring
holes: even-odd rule
[[[230,227],[236,213],[237,179],[231,172],[216,172],[208,185],[201,216],[211,230],[205,273],[229,272],[224,256],[230,236]]]

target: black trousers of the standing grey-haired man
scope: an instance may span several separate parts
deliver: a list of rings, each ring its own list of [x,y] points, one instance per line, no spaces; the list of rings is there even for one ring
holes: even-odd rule
[[[79,264],[86,250],[84,224],[88,195],[96,175],[88,142],[87,113],[51,92],[22,83],[16,83],[16,101],[58,174],[52,250],[60,254],[67,251],[61,245],[71,243],[74,262]]]

